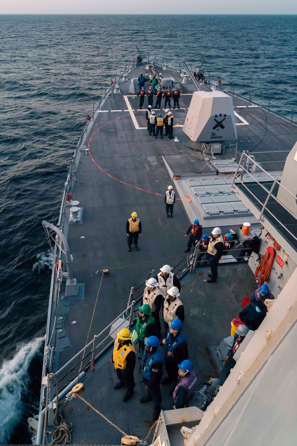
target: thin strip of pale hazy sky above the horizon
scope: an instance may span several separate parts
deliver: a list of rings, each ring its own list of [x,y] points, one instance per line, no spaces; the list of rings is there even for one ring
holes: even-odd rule
[[[296,0],[1,0],[0,14],[297,14]]]

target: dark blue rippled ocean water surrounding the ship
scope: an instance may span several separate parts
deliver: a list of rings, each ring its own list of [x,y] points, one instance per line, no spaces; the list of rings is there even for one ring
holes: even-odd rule
[[[297,16],[0,16],[0,443],[30,443],[37,413],[51,252],[68,160],[105,83],[135,45],[185,60],[290,116]]]

